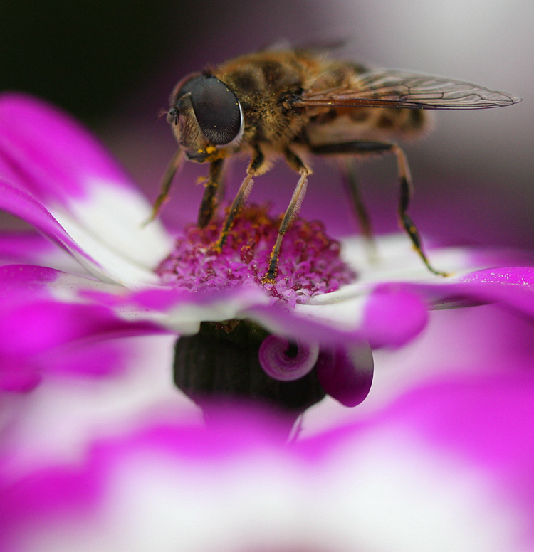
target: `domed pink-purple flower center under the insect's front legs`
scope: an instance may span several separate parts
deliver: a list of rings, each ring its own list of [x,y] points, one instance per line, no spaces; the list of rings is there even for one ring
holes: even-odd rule
[[[355,272],[340,258],[340,243],[326,235],[323,223],[295,218],[283,238],[276,283],[262,284],[280,222],[281,217],[269,216],[267,206],[246,206],[221,253],[214,244],[224,218],[214,218],[206,228],[189,225],[156,272],[163,284],[192,291],[253,282],[293,305],[355,280]]]

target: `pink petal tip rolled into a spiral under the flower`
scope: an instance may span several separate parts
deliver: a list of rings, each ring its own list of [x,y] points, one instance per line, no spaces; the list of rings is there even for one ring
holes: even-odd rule
[[[318,344],[304,344],[298,341],[296,354],[287,339],[268,336],[263,339],[258,358],[268,376],[278,381],[295,381],[311,371],[319,355]]]

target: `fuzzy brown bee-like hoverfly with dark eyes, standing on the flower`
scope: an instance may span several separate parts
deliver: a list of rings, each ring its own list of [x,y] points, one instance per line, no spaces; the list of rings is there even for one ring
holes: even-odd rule
[[[419,137],[427,127],[424,110],[502,107],[518,96],[486,87],[397,70],[371,70],[359,63],[329,58],[324,52],[288,49],[259,51],[187,75],[174,87],[167,121],[179,143],[162,180],[152,218],[169,196],[182,159],[209,163],[198,225],[205,227],[214,212],[225,159],[250,158],[246,176],[226,216],[215,250],[221,250],[251,192],[253,180],[268,171],[271,161],[286,159],[299,175],[281,221],[263,283],[275,282],[283,235],[303,201],[308,157],[361,157],[393,154],[399,177],[398,216],[426,267],[435,274],[419,232],[407,214],[412,179],[407,158],[396,139]],[[360,225],[370,223],[351,178]]]

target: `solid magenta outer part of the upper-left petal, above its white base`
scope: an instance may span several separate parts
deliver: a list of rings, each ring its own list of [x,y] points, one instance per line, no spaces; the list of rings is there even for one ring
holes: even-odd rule
[[[0,96],[0,174],[49,207],[68,207],[71,200],[83,198],[94,179],[131,186],[100,143],[72,117],[12,93]]]

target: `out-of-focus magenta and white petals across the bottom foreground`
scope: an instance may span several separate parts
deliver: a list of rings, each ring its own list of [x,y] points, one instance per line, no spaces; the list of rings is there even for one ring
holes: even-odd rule
[[[526,552],[533,384],[531,374],[434,382],[289,444],[277,420],[235,408],[209,427],[153,418],[25,474],[0,463],[0,543]]]

